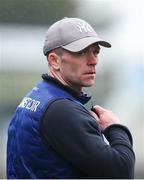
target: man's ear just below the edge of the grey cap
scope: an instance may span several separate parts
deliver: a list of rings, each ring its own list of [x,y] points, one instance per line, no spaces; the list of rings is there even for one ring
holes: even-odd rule
[[[56,54],[56,53],[49,53],[48,55],[48,63],[50,64],[50,66],[55,69],[55,70],[59,70],[60,66],[59,66],[59,61],[60,61],[60,57]]]

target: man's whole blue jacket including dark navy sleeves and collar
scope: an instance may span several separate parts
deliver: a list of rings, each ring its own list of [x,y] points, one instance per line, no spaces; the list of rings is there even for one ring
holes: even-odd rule
[[[83,106],[90,97],[46,74],[42,78],[9,125],[7,177],[133,178],[135,155],[127,127],[113,124],[101,132]]]

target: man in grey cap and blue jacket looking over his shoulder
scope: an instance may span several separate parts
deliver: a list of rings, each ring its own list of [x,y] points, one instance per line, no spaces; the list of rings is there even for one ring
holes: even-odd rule
[[[47,31],[49,73],[10,122],[8,178],[133,178],[132,136],[111,111],[84,107],[94,84],[100,39],[84,20],[64,18]],[[103,136],[109,142],[104,141]]]

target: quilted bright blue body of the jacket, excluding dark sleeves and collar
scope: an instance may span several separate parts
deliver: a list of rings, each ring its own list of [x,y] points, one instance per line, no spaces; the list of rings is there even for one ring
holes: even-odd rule
[[[40,134],[46,108],[60,98],[80,103],[53,83],[41,81],[17,107],[8,129],[7,178],[78,178],[71,165],[45,145]]]

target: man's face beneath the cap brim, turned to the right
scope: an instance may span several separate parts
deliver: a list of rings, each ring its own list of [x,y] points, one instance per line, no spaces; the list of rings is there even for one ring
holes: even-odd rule
[[[100,48],[93,44],[81,52],[71,53],[63,50],[59,75],[64,82],[75,90],[94,84],[96,65]]]

